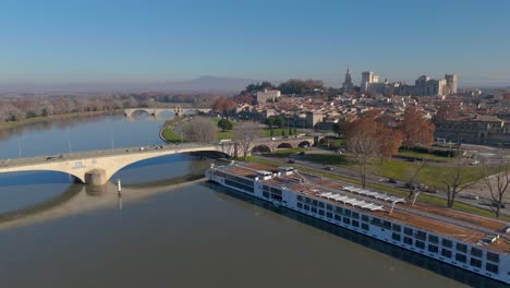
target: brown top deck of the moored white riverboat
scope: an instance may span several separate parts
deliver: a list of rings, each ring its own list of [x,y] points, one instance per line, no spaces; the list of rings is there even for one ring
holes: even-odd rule
[[[259,170],[277,173],[279,168],[260,164],[243,164],[243,166],[224,166],[221,170],[253,179]],[[345,190],[347,187],[351,185],[331,179],[321,179],[319,176],[307,173],[298,172],[289,176],[279,176],[268,180],[262,180],[260,182],[289,189],[312,199],[348,207],[353,211],[360,211],[365,214],[376,215],[381,218],[388,218],[389,220],[414,226],[439,236],[459,239],[473,244],[482,242],[482,240],[487,237],[501,235],[499,239],[493,243],[484,244],[484,247],[501,253],[510,252],[510,238],[508,233],[500,231],[508,224],[501,220],[420,202],[416,202],[414,205],[411,205],[409,202],[398,203],[390,214],[389,211],[391,209],[392,203],[352,193]],[[326,192],[382,204],[384,211],[367,211],[362,207],[342,204],[338,201],[325,197],[324,193]]]

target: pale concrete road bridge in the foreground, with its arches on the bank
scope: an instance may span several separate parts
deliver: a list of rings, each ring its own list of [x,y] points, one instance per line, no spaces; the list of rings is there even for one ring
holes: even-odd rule
[[[254,152],[271,152],[277,148],[311,146],[313,143],[313,137],[279,140],[258,139],[253,142],[250,149]],[[143,148],[132,147],[92,151],[49,157],[38,156],[0,160],[0,173],[41,170],[59,171],[74,176],[82,183],[104,185],[114,173],[131,164],[145,159],[191,152],[220,152],[226,156],[243,155],[241,145],[229,141],[214,144],[153,145]]]

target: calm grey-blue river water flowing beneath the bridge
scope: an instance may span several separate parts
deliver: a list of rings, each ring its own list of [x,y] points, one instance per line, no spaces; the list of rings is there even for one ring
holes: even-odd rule
[[[0,159],[161,143],[162,122],[101,116],[0,132]],[[0,287],[503,287],[254,201],[173,155],[89,190],[66,175],[0,175]],[[21,211],[13,213],[13,211]]]

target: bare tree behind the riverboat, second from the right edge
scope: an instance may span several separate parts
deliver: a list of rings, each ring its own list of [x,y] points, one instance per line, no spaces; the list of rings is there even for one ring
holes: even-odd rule
[[[463,167],[464,161],[460,155],[460,151],[458,151],[452,164],[453,167],[447,171],[438,170],[435,175],[437,180],[441,182],[446,189],[447,206],[450,208],[453,207],[456,196],[462,192],[462,190],[474,183],[474,181],[472,181],[474,176]]]

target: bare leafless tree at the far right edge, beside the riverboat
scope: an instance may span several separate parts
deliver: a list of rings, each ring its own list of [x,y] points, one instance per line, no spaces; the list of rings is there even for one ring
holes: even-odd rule
[[[490,192],[493,203],[496,206],[496,218],[499,218],[501,205],[503,204],[503,195],[510,184],[509,172],[509,164],[503,157],[499,158],[496,175],[491,175],[491,171],[487,166],[484,167],[484,181]]]

